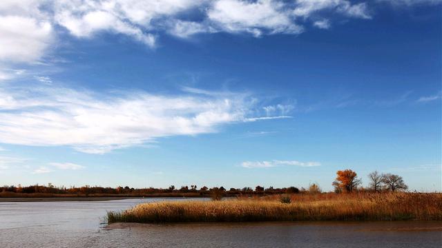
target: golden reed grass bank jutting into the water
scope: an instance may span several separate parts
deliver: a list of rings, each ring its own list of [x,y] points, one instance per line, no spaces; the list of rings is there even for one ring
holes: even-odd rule
[[[442,220],[442,194],[316,194],[221,201],[142,203],[108,212],[108,223],[236,222],[266,220]]]

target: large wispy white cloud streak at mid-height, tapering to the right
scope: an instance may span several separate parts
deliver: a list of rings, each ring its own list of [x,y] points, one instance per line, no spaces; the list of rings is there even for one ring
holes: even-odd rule
[[[218,126],[229,123],[289,118],[260,117],[258,104],[240,93],[97,94],[55,85],[26,89],[0,85],[0,141],[68,145],[102,154],[164,136],[216,132]]]

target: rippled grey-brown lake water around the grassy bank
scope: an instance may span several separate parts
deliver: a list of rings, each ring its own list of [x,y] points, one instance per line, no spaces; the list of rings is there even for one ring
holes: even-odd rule
[[[102,224],[160,200],[0,203],[0,247],[442,247],[441,222]]]

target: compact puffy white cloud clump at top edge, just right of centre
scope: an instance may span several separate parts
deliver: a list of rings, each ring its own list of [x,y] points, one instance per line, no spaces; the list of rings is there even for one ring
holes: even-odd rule
[[[294,22],[282,1],[219,0],[207,12],[222,30],[262,34],[299,34],[303,28]]]

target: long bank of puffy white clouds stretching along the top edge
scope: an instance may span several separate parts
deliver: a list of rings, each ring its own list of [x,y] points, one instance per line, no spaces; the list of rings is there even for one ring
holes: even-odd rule
[[[296,17],[321,10],[369,18],[365,3],[347,0],[3,0],[0,61],[40,61],[63,28],[79,38],[124,34],[154,47],[159,32],[182,38],[203,32],[299,34],[304,28]]]

